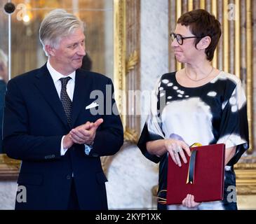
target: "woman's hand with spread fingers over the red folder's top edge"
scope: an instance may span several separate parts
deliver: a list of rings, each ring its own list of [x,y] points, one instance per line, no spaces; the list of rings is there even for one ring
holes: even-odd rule
[[[187,158],[184,154],[184,151],[189,156],[191,155],[191,151],[189,149],[189,146],[185,144],[184,141],[176,139],[166,139],[165,145],[168,153],[170,154],[170,157],[173,159],[173,162],[175,162],[176,165],[178,165],[179,167],[182,166],[180,157],[182,158],[184,163],[187,163]]]

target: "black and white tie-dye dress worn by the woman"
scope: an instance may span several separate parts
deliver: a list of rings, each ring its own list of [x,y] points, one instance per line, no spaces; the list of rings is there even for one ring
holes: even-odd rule
[[[205,85],[183,87],[177,83],[175,74],[166,73],[159,79],[137,144],[149,160],[160,162],[158,196],[166,197],[168,153],[161,157],[149,154],[147,141],[176,138],[189,146],[195,142],[202,145],[223,143],[226,148],[236,146],[236,154],[225,167],[224,200],[201,203],[198,209],[237,209],[232,192],[236,186],[233,166],[249,147],[246,99],[241,80],[220,71]],[[182,206],[158,204],[158,208],[182,209]]]

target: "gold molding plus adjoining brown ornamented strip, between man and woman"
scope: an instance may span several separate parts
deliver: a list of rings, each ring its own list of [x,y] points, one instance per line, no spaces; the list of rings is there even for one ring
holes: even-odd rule
[[[140,132],[140,118],[128,114],[128,90],[140,89],[140,1],[114,0],[114,86],[116,103],[121,113],[124,137],[135,142]],[[130,130],[134,130],[131,132]],[[133,134],[131,134],[133,133]]]

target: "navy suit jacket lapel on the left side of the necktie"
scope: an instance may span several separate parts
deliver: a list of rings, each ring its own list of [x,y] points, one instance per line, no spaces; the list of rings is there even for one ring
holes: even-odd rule
[[[53,79],[50,76],[50,73],[46,67],[46,64],[41,67],[39,73],[35,76],[34,84],[39,89],[43,97],[46,99],[46,102],[50,105],[51,109],[57,114],[62,123],[69,129],[67,124],[67,116],[60,102],[58,92],[53,83]]]

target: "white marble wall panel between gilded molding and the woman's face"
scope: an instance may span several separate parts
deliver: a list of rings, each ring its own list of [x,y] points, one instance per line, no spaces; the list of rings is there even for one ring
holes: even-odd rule
[[[141,86],[140,90],[151,91],[156,80],[168,72],[168,0],[141,0]],[[148,106],[149,102],[142,106]],[[148,110],[143,108],[141,127]]]

